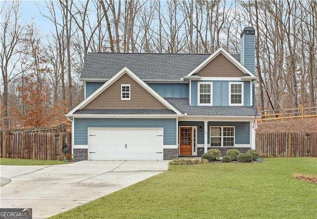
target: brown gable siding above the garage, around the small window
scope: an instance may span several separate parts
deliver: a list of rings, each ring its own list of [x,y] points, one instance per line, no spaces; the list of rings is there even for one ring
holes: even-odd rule
[[[130,100],[121,100],[121,84],[130,84]],[[167,109],[128,74],[123,74],[83,109]]]

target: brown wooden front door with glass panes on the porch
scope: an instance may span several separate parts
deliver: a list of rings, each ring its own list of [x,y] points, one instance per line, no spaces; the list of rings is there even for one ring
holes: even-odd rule
[[[179,155],[192,155],[192,127],[179,128]]]

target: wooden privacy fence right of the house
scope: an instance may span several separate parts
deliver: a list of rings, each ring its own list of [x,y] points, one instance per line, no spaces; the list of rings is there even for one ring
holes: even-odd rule
[[[265,157],[317,157],[317,133],[257,133],[256,149]]]

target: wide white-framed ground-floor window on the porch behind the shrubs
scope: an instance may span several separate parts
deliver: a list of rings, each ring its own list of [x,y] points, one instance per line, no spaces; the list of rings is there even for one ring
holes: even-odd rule
[[[211,147],[233,147],[234,126],[210,127]]]

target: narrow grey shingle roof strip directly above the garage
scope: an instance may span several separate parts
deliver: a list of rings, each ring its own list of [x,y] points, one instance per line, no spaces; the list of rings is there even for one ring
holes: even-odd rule
[[[81,109],[74,114],[176,114],[168,109]]]

